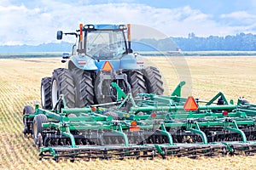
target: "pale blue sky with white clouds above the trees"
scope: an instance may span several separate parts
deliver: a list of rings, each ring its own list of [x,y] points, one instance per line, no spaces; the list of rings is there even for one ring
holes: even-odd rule
[[[255,0],[1,0],[0,45],[57,42],[79,24],[142,25],[166,37],[256,34]]]

